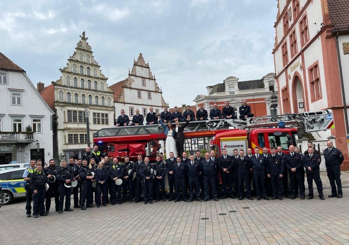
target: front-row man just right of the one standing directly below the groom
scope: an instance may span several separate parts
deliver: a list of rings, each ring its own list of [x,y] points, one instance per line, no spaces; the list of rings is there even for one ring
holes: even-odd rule
[[[190,155],[190,162],[186,163],[186,170],[189,182],[189,202],[194,200],[194,187],[196,200],[201,202],[199,175],[201,175],[201,164],[194,161],[194,155]]]

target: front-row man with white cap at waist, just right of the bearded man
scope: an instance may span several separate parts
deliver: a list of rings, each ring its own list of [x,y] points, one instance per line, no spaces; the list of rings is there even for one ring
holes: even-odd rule
[[[57,170],[57,180],[59,183],[59,214],[63,213],[64,196],[66,196],[64,210],[73,211],[73,209],[70,208],[70,195],[72,194],[72,187],[66,187],[64,184],[71,185],[74,176],[70,169],[67,167],[66,161],[62,161],[61,165],[62,167]]]

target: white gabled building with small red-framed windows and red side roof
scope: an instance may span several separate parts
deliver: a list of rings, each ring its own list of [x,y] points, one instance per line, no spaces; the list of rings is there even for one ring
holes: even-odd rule
[[[142,53],[137,61],[133,60],[132,70],[128,69],[128,76],[125,80],[115,83],[109,87],[114,92],[115,117],[120,115],[121,110],[132,122],[136,109],[144,116],[144,125],[149,107],[154,108],[154,112],[162,112],[167,106],[162,97],[155,74],[150,71],[149,62],[145,62]]]

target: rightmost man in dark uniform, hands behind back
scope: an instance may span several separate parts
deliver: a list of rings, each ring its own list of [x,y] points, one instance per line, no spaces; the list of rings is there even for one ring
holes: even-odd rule
[[[331,195],[328,197],[342,198],[341,164],[344,161],[342,152],[333,146],[331,140],[326,142],[327,148],[324,150],[327,177],[331,185]],[[337,184],[337,189],[336,189]]]

